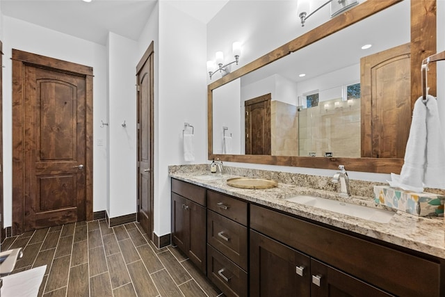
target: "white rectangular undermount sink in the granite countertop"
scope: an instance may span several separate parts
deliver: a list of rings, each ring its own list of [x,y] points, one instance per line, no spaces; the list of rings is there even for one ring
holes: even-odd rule
[[[338,212],[339,214],[355,216],[356,218],[372,220],[377,223],[389,223],[389,220],[391,220],[394,214],[396,214],[394,211],[365,207],[362,205],[330,200],[312,195],[296,195],[291,198],[286,198],[286,200],[328,211]]]

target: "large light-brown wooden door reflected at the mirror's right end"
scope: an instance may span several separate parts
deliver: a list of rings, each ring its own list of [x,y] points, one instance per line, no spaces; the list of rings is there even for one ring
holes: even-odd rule
[[[411,124],[410,43],[366,56],[360,64],[362,156],[402,159]]]

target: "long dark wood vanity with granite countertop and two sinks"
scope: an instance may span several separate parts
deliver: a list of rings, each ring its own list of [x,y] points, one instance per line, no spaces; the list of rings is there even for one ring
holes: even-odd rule
[[[342,197],[329,178],[316,188],[302,175],[198,167],[170,168],[172,243],[225,295],[445,295],[444,218],[385,209],[372,195]],[[227,184],[241,176],[278,184]]]

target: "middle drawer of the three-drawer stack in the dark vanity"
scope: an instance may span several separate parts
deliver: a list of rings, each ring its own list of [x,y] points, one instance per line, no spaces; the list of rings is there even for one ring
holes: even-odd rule
[[[248,270],[248,228],[207,209],[207,243]]]

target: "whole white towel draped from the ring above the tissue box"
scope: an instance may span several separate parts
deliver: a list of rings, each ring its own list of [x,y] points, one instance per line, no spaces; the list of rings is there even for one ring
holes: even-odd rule
[[[414,104],[410,136],[401,175],[391,174],[390,186],[422,192],[423,186],[445,188],[445,143],[435,97]]]

